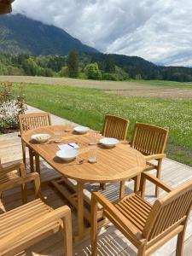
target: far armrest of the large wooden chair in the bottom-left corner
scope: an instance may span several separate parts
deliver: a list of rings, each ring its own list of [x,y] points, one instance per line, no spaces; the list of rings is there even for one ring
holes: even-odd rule
[[[26,177],[16,177],[15,179],[10,180],[9,182],[0,184],[0,191],[4,191],[7,189],[15,188],[24,183],[30,183],[34,181],[35,183],[35,194],[38,195],[40,193],[40,177],[38,172],[33,172]]]

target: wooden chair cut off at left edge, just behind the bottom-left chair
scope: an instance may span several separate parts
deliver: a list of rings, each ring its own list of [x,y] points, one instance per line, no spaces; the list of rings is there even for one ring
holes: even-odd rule
[[[1,164],[0,159],[0,186],[3,183],[14,181],[18,177],[26,177],[25,166],[20,161],[12,161],[9,163]],[[20,185],[23,203],[26,203],[26,186]],[[0,192],[2,197],[3,191]]]

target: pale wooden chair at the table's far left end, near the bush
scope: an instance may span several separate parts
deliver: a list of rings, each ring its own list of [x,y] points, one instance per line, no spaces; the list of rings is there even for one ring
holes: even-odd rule
[[[50,115],[47,112],[39,113],[23,113],[19,115],[19,124],[20,124],[20,135],[24,132],[38,127],[51,125]],[[26,144],[22,143],[22,153],[23,153],[23,162],[26,165]],[[33,152],[29,148],[29,159],[31,172],[34,172],[33,167]]]

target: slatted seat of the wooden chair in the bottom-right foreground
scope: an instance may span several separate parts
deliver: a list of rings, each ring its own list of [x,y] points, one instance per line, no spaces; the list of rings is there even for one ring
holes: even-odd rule
[[[152,208],[147,201],[137,194],[125,196],[123,200],[115,204],[115,207],[141,231],[143,231]]]

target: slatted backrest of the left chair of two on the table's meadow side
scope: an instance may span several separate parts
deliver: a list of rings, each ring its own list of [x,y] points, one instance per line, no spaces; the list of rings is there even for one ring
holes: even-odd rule
[[[127,119],[107,114],[102,127],[102,136],[125,140],[128,126],[129,121]]]

